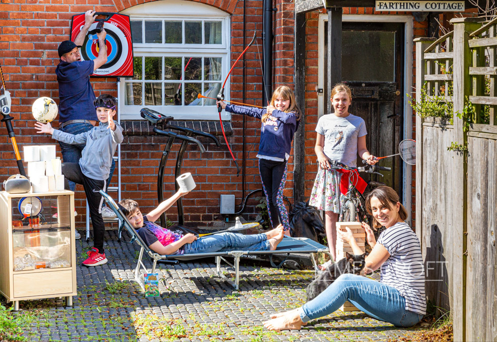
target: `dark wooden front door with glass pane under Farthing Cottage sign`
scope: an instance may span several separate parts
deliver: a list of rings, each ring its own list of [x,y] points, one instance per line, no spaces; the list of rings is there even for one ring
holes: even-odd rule
[[[325,32],[328,30],[326,25],[327,22]],[[325,51],[328,51],[326,34],[325,45]],[[368,150],[378,157],[398,153],[403,137],[403,94],[406,92],[403,89],[403,48],[403,23],[342,23],[341,76],[352,90],[349,112],[366,122]],[[327,60],[325,56],[325,68],[328,68]],[[324,90],[329,97],[331,89]],[[390,167],[392,171],[382,171],[383,177],[362,176],[366,180],[386,183],[402,198],[403,164],[398,156],[386,158],[378,165]],[[358,159],[357,166],[361,165],[362,160]]]

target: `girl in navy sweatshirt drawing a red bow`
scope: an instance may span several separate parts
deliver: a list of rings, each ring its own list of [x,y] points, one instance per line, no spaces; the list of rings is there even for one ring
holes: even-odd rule
[[[284,227],[290,236],[288,212],[283,203],[283,188],[286,182],[287,161],[290,158],[292,140],[302,116],[295,102],[293,91],[286,85],[274,90],[271,102],[266,108],[237,106],[216,101],[227,112],[253,116],[262,121],[257,158],[262,188],[266,195],[267,212],[271,226]]]

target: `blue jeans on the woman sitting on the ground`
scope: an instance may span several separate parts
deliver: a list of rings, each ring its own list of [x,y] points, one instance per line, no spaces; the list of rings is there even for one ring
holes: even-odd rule
[[[327,316],[347,300],[369,316],[398,327],[414,326],[423,318],[405,309],[406,300],[397,289],[350,273],[340,275],[319,296],[304,304],[299,309],[300,318],[305,323]]]

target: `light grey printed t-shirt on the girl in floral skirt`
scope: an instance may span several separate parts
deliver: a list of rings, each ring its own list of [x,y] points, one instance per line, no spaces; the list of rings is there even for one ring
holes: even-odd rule
[[[364,120],[348,114],[323,115],[318,120],[316,132],[325,136],[324,154],[331,160],[355,167],[357,164],[357,138],[368,134]]]

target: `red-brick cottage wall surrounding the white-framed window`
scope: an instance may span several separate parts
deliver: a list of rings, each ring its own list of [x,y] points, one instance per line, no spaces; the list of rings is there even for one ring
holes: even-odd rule
[[[5,3],[7,2],[7,3]],[[34,120],[31,115],[31,104],[40,96],[49,96],[58,103],[58,84],[55,68],[59,63],[57,54],[58,44],[68,39],[70,35],[71,18],[74,14],[82,13],[88,9],[103,12],[116,12],[130,6],[148,1],[118,1],[118,0],[92,0],[88,4],[80,5],[77,0],[6,0],[0,4],[0,64],[5,77],[5,85],[12,95],[12,121],[16,139],[20,150],[23,145],[32,144],[57,144],[48,136],[40,136],[34,130]],[[238,0],[200,0],[232,14],[232,62],[243,50],[243,1]],[[246,42],[248,43],[257,30],[257,43],[261,49],[262,30],[262,1],[247,1],[247,27]],[[290,50],[293,50],[291,48]],[[256,47],[250,48],[247,53],[247,103],[260,104],[262,91],[262,78],[259,56]],[[260,56],[262,58],[262,55]],[[293,61],[293,54],[286,55]],[[231,76],[231,98],[241,100],[242,95],[242,61],[233,70]],[[293,72],[288,72],[293,74]],[[115,78],[93,78],[91,80],[95,95],[110,93],[117,96]],[[232,150],[240,166],[242,166],[242,137],[243,117],[234,115],[232,118],[232,132],[228,137]],[[54,121],[54,126],[57,126]],[[228,131],[231,131],[230,129]],[[260,188],[257,161],[255,158],[259,141],[260,121],[247,118],[246,152],[246,187],[248,191]],[[136,133],[136,132],[135,132]],[[211,132],[212,133],[212,132]],[[235,164],[231,160],[224,139],[220,132],[218,135],[222,143],[216,147],[209,141],[204,141],[206,153],[200,154],[196,146],[189,146],[184,156],[182,171],[191,172],[197,183],[197,188],[183,199],[185,223],[195,225],[213,225],[213,221],[221,220],[219,215],[220,194],[235,194],[236,205],[242,201],[242,175],[236,176]],[[230,134],[230,132],[228,132]],[[157,173],[162,151],[166,139],[159,136],[134,135],[128,132],[122,148],[122,196],[134,198],[141,204],[144,212],[158,204],[157,200]],[[0,129],[0,180],[17,173],[15,157],[13,154],[7,132],[4,127]],[[164,182],[165,196],[174,191],[174,161],[179,144],[175,144],[169,161],[166,165]],[[57,148],[60,155],[60,149]],[[22,155],[22,154],[21,154]],[[290,170],[291,171],[291,170]],[[291,179],[291,176],[289,177]],[[117,176],[113,177],[113,184]],[[285,191],[291,195],[289,182]],[[77,186],[75,205],[80,214],[77,217],[79,226],[85,221],[85,201],[83,187]],[[246,213],[254,213],[258,201],[252,199],[248,202]],[[177,220],[176,208],[173,206],[168,211],[168,218]],[[250,217],[249,217],[250,216]],[[246,219],[255,218],[255,214],[246,215]]]

